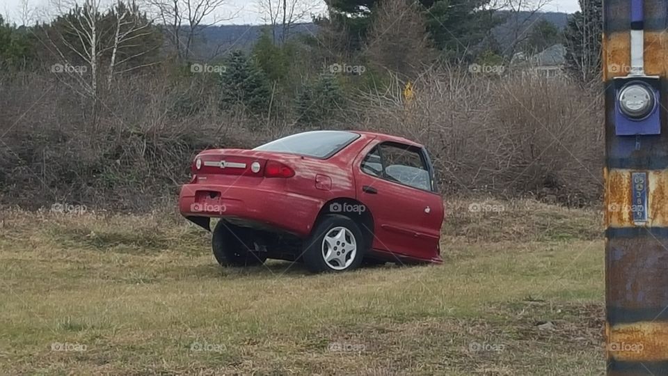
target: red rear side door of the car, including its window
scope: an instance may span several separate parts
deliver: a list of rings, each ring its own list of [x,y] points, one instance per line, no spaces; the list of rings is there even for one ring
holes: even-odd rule
[[[426,152],[376,141],[360,152],[353,173],[357,199],[374,217],[374,249],[438,258],[443,200],[434,189]]]

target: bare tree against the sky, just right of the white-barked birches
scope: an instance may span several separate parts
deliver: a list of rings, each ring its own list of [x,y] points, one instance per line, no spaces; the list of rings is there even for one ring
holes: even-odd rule
[[[202,30],[234,19],[238,12],[221,16],[216,13],[226,0],[147,0],[155,17],[168,31],[168,40],[178,58],[188,58],[194,39]],[[183,32],[183,35],[182,35]]]

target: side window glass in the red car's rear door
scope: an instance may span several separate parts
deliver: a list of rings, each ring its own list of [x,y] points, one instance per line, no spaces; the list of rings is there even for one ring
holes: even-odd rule
[[[411,146],[382,143],[367,154],[360,167],[372,176],[433,191],[427,162],[420,150]]]

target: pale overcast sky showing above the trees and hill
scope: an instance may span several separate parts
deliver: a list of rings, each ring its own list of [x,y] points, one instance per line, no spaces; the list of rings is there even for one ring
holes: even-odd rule
[[[21,3],[27,1],[30,8],[48,8],[51,0],[3,0],[3,8],[0,12],[3,15],[8,15],[9,19],[17,24],[22,23]],[[79,1],[83,2],[83,1]],[[325,9],[324,1],[313,0],[315,9],[323,12]],[[552,0],[548,6],[544,8],[545,11],[559,11],[566,13],[573,13],[580,10],[577,0]],[[222,24],[262,24],[262,15],[260,15],[257,6],[257,0],[228,0],[228,6],[221,9],[219,12],[221,17],[236,14],[237,17],[230,21],[221,22]]]

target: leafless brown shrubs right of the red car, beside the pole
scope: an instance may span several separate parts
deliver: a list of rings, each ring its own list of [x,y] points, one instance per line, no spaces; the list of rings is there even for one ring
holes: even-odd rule
[[[429,148],[445,192],[598,198],[603,166],[599,93],[562,78],[486,77],[457,68],[363,93],[349,113],[367,128]]]

